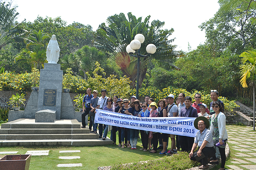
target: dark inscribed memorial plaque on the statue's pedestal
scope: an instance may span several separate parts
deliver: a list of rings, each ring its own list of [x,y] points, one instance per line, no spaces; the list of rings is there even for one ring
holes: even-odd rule
[[[44,89],[43,106],[56,106],[56,89]]]

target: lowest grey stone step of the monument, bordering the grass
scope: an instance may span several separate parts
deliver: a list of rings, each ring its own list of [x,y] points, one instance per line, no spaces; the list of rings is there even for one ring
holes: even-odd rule
[[[55,140],[0,140],[0,146],[104,146],[112,144],[109,138],[100,139],[55,139]]]

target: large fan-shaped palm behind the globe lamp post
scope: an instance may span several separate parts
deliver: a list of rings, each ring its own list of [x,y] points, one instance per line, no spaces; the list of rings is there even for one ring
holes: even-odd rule
[[[155,44],[157,47],[155,54],[150,57],[143,57],[140,61],[139,86],[141,86],[146,76],[147,65],[149,62],[153,59],[160,61],[178,56],[178,52],[174,51],[176,46],[171,45],[171,42],[174,41],[174,39],[168,40],[168,37],[174,32],[174,29],[161,30],[160,28],[163,27],[165,23],[159,20],[154,20],[149,23],[149,18],[150,15],[142,21],[142,17],[137,19],[131,12],[129,12],[127,20],[123,13],[120,13],[119,15],[115,14],[108,17],[108,26],[105,26],[105,23],[102,23],[97,30],[98,37],[96,40],[96,47],[109,53],[115,53],[114,60],[117,65],[120,66],[123,74],[130,77],[134,87],[137,70],[137,65],[135,63],[137,62],[137,59],[134,59],[126,53],[126,46],[130,44],[136,34],[141,33],[145,36],[145,41],[140,48],[141,54],[146,54],[146,46],[148,44]]]

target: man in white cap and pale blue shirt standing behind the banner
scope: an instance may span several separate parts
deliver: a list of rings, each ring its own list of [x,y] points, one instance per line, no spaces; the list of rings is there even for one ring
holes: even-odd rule
[[[178,113],[178,106],[174,103],[174,95],[173,94],[169,94],[168,95],[168,108],[167,108],[167,114],[168,117],[176,117],[177,113]],[[166,153],[166,155],[172,154],[172,153],[177,153],[176,150],[176,141],[175,141],[175,135],[170,134],[170,138],[172,141],[172,146],[171,149]]]

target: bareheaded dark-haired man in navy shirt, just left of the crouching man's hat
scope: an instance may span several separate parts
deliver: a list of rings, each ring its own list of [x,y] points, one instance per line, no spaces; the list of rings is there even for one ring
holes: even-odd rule
[[[197,109],[191,106],[191,101],[192,98],[190,96],[186,96],[184,98],[184,103],[186,107],[181,108],[180,117],[198,117]],[[179,143],[181,151],[190,152],[194,143],[194,137],[179,135]]]

